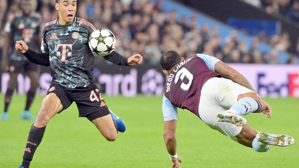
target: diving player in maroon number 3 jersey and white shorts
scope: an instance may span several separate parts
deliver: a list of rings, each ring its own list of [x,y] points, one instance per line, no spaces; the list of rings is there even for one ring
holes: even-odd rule
[[[262,112],[271,118],[271,108],[243,75],[221,60],[205,54],[184,59],[170,50],[163,53],[160,64],[169,76],[162,110],[164,140],[173,168],[179,168],[177,162],[182,162],[176,151],[178,107],[188,109],[212,129],[257,152],[268,151],[269,145],[294,143],[288,135],[257,132],[247,124],[242,115]]]

